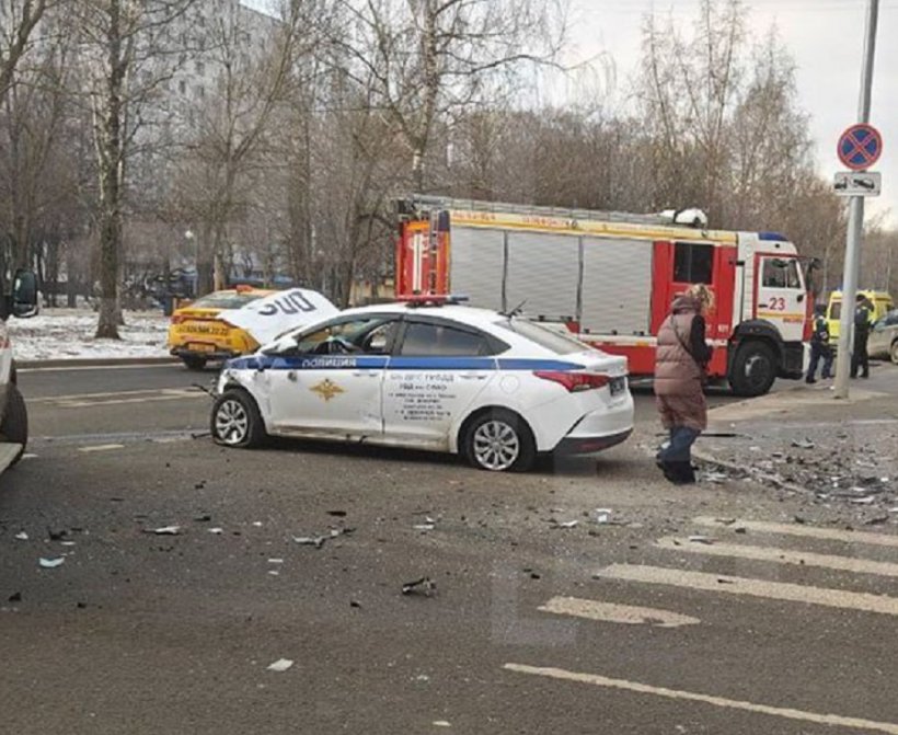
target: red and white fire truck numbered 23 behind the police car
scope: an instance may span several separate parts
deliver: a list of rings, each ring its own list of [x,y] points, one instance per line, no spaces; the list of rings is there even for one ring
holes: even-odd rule
[[[631,215],[415,196],[398,203],[396,296],[564,322],[651,376],[674,297],[706,284],[714,382],[739,395],[799,378],[813,298],[795,245],[775,232],[707,230],[699,210]]]

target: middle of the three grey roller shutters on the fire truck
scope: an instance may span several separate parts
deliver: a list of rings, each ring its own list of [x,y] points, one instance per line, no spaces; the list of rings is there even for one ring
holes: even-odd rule
[[[550,320],[577,315],[580,245],[575,236],[545,232],[508,233],[506,296],[514,308]]]

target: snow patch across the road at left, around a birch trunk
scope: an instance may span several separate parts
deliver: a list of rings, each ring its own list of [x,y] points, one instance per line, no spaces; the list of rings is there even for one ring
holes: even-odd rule
[[[7,322],[15,359],[115,359],[165,357],[169,318],[161,311],[126,311],[122,340],[95,340],[97,314],[91,309],[44,309],[31,319]]]

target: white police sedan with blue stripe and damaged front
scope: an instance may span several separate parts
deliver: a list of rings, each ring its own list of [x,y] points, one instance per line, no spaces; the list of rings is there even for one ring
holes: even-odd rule
[[[268,435],[463,455],[526,470],[538,452],[594,452],[633,430],[626,360],[539,323],[451,302],[348,309],[229,360],[214,439]]]

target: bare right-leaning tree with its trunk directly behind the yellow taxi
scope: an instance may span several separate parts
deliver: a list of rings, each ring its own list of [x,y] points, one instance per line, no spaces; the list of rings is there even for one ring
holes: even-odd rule
[[[278,18],[234,5],[212,24],[206,61],[216,70],[217,83],[198,105],[197,133],[183,159],[176,193],[185,217],[198,223],[198,294],[223,283],[223,264],[233,257],[229,226],[253,207],[253,190],[246,186],[251,176],[278,165],[272,128],[285,119],[297,59],[318,44],[320,11],[307,0],[285,3]]]

